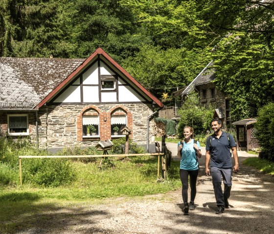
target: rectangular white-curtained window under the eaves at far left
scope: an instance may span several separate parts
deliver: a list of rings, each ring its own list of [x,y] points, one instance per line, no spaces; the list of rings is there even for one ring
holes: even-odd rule
[[[28,115],[8,115],[9,135],[28,135]]]

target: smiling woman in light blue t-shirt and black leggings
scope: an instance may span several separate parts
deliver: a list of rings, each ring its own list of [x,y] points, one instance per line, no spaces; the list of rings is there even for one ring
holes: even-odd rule
[[[178,143],[178,157],[180,161],[180,178],[182,181],[183,189],[183,212],[188,213],[188,210],[193,211],[194,200],[196,196],[196,181],[199,174],[198,159],[202,157],[200,143],[194,143],[194,130],[189,126],[183,128],[184,140]],[[196,142],[196,141],[195,141]],[[197,153],[197,154],[196,154]],[[188,175],[190,177],[190,202],[187,203],[187,190],[188,190]]]

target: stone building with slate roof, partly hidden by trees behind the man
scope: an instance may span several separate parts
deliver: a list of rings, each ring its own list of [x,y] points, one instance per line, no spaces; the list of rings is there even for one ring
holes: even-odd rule
[[[192,91],[198,92],[199,102],[205,106],[215,108],[214,117],[222,119],[224,127],[231,128],[230,98],[215,87],[212,82],[215,79],[215,72],[211,61],[200,72],[200,74],[181,93],[182,99]]]

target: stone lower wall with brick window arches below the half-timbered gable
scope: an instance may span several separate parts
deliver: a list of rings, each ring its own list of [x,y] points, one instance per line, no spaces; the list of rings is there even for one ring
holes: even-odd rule
[[[94,146],[99,140],[111,139],[111,114],[115,110],[127,113],[127,125],[132,129],[130,137],[137,144],[146,144],[147,116],[153,110],[145,104],[58,105],[39,109],[39,147],[59,148]],[[82,116],[92,110],[99,115],[100,138],[82,137]],[[91,113],[92,114],[92,113]],[[104,118],[107,121],[104,121]],[[154,122],[150,123],[150,141],[154,136]]]

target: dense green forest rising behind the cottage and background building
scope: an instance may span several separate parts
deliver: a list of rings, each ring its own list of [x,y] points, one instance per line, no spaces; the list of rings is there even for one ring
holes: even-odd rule
[[[1,0],[0,56],[87,58],[102,47],[161,99],[211,60],[234,120],[274,100],[273,0]]]

